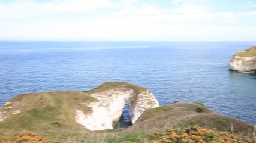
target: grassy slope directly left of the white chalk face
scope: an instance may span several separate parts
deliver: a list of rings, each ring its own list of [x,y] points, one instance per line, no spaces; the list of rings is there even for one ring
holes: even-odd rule
[[[78,91],[42,92],[18,96],[17,99],[14,97],[10,100],[13,102],[13,108],[23,105],[22,112],[0,122],[0,132],[7,135],[23,130],[38,134],[46,130],[68,132],[75,129],[88,132],[82,125],[76,123],[74,116],[77,109],[84,113],[90,112],[91,108],[83,102],[92,100],[95,99]]]

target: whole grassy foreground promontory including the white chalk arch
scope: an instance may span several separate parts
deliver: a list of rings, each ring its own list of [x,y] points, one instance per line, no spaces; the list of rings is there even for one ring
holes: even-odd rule
[[[113,129],[113,123],[120,119],[125,105],[129,106],[132,126]],[[198,126],[211,130],[200,129]],[[22,94],[11,98],[0,108],[0,142],[7,143],[31,140],[41,143],[144,143],[146,140],[141,138],[146,139],[147,136],[139,137],[141,133],[153,133],[167,128],[177,129],[177,134],[172,134],[175,137],[173,139],[184,138],[184,142],[197,139],[194,132],[188,132],[187,127],[200,129],[197,130],[200,133],[198,138],[207,142],[215,141],[217,134],[212,134],[215,131],[221,131],[221,135],[222,132],[232,133],[225,133],[232,141],[236,139],[233,135],[246,137],[237,138],[239,142],[241,139],[253,138],[254,132],[253,125],[219,115],[202,103],[175,102],[159,107],[158,100],[149,89],[127,82],[105,82],[91,91],[84,92],[47,91]],[[184,130],[185,133],[180,134]],[[206,134],[201,132],[203,130]],[[206,135],[209,138],[206,138]],[[162,133],[159,136],[165,138]],[[47,141],[43,141],[44,137]],[[222,137],[227,139],[227,136]]]

